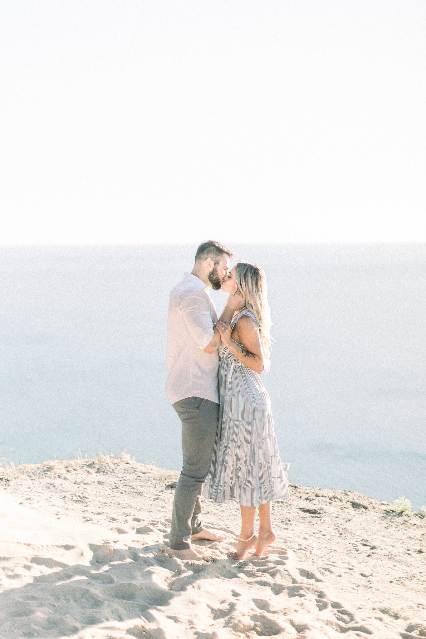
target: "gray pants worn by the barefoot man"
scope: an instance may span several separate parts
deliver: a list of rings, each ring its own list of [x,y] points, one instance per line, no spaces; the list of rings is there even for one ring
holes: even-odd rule
[[[182,422],[183,466],[174,493],[170,547],[189,550],[191,535],[202,530],[200,495],[213,457],[219,404],[202,397],[185,397],[173,408]]]

